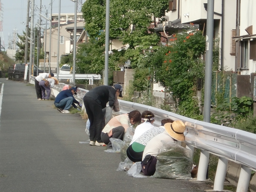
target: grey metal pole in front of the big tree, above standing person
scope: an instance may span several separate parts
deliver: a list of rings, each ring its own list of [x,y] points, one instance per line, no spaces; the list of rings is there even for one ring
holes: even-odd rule
[[[105,73],[104,73],[105,77],[104,77],[104,85],[108,85],[109,4],[110,4],[110,0],[106,0]]]

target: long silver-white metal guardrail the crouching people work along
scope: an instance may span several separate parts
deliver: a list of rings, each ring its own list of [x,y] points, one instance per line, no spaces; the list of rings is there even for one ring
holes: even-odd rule
[[[54,86],[54,92],[59,92],[62,84]],[[78,88],[76,98],[82,103],[83,97],[88,90]],[[161,110],[155,107],[146,106],[134,102],[124,100],[119,101],[119,112],[115,114],[125,114],[132,110],[150,110],[155,115],[156,126],[160,126],[163,118],[171,118],[172,120],[182,120],[186,125],[184,132],[187,148],[194,151],[194,147],[201,150],[200,162],[198,166],[197,180],[205,180],[208,167],[209,153],[219,157],[218,167],[214,180],[214,190],[222,191],[226,176],[228,160],[240,164],[241,171],[237,185],[237,192],[247,192],[250,182],[251,170],[256,171],[256,135],[220,126],[207,122],[202,122],[187,118],[172,112]],[[83,106],[84,109],[84,106]]]

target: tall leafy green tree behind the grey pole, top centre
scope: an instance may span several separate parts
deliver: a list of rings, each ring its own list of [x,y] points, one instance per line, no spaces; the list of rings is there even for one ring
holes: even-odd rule
[[[145,50],[156,49],[160,35],[150,30],[152,16],[161,18],[168,8],[168,0],[111,0],[109,39],[119,39],[130,47],[123,57],[136,68]],[[82,7],[85,28],[99,46],[105,42],[106,4],[103,0],[87,0]],[[117,53],[117,52],[116,52]],[[115,53],[114,53],[115,54]],[[119,61],[117,61],[119,62]]]

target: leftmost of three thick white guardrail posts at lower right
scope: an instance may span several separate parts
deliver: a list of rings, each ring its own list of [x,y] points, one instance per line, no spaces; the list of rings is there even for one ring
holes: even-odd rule
[[[209,162],[209,153],[205,150],[201,150],[200,160],[198,165],[197,180],[204,181],[206,179],[206,173]]]

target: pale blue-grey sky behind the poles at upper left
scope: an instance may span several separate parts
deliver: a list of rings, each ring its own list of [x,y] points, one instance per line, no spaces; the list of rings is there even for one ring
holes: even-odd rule
[[[35,7],[40,8],[40,0],[34,0]],[[0,0],[2,3],[2,29],[0,32],[1,41],[4,40],[4,47],[8,49],[9,34],[12,38],[13,29],[17,29],[18,34],[26,31],[27,5],[28,0]],[[84,3],[84,0],[82,0]],[[59,0],[52,0],[52,13],[58,14]],[[74,13],[74,2],[71,0],[61,0],[61,13]],[[50,13],[50,0],[42,0],[42,14],[45,15],[46,10]],[[39,9],[36,8],[34,25],[39,19]],[[4,39],[3,39],[4,38]],[[3,44],[3,42],[2,42]]]

